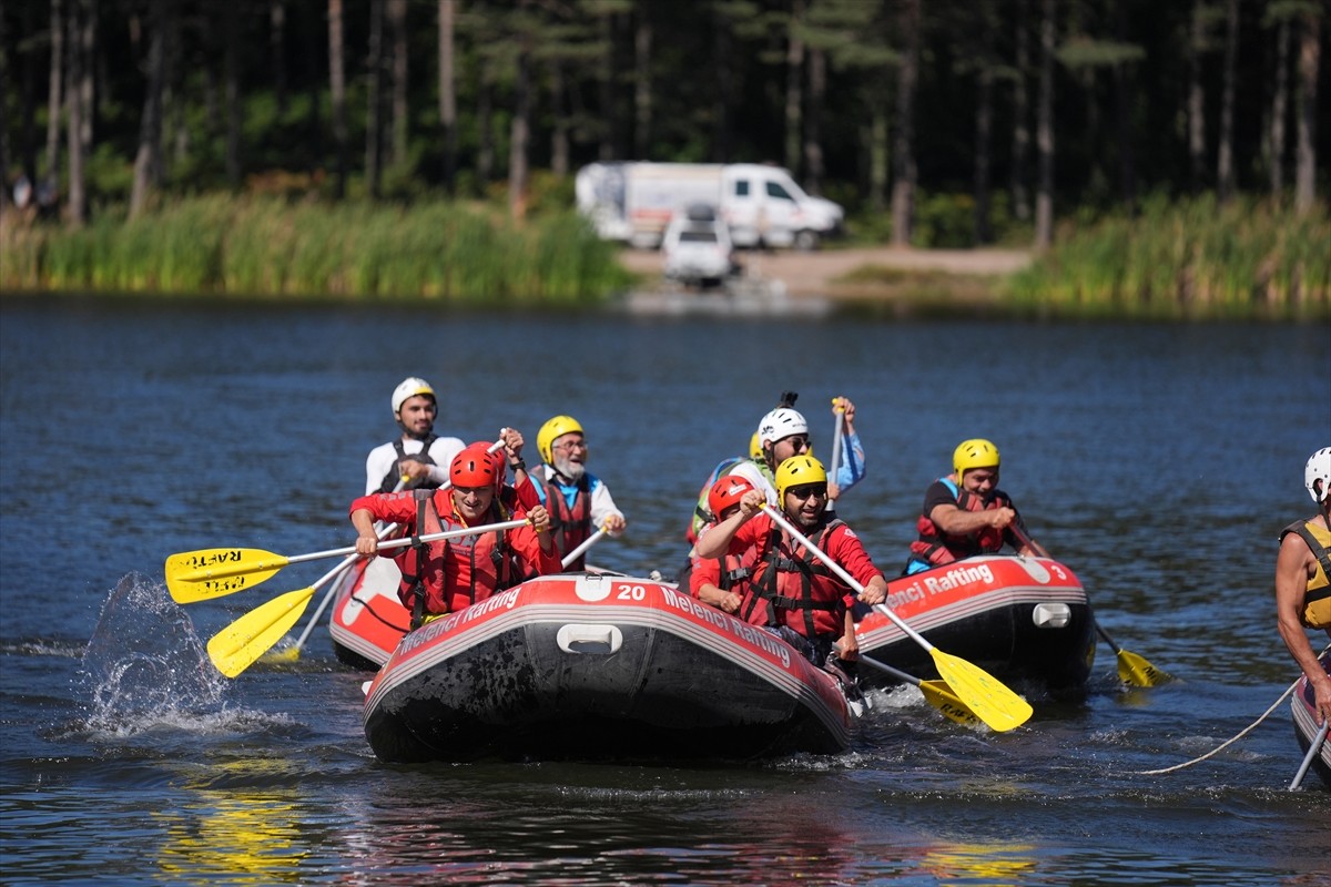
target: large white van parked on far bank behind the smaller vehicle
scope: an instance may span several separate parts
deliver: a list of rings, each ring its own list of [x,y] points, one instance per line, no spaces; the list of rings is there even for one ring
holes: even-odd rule
[[[639,247],[659,246],[671,218],[691,203],[716,206],[735,246],[813,249],[845,219],[789,172],[763,164],[591,164],[578,170],[575,189],[600,237]]]

